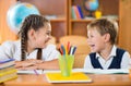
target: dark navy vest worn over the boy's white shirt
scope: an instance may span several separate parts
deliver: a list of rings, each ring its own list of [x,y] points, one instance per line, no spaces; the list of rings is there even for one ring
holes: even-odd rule
[[[114,57],[112,62],[110,63],[108,69],[121,69],[120,64],[121,64],[122,56],[126,51],[117,48],[116,52],[117,52],[117,54],[116,54],[116,57]],[[91,59],[91,63],[94,69],[103,69],[98,59],[96,58],[95,52],[90,53],[90,59]]]

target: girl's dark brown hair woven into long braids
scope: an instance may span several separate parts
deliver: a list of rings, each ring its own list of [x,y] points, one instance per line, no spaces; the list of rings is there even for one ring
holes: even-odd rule
[[[48,20],[40,15],[31,14],[29,16],[25,17],[22,27],[19,32],[21,36],[21,58],[22,61],[25,60],[25,51],[27,51],[27,33],[29,29],[38,30],[40,27],[45,26],[45,23],[49,23]],[[41,59],[41,49],[38,49],[37,59]]]

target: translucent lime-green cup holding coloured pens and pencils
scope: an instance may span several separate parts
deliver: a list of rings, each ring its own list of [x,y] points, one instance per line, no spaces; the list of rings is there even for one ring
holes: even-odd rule
[[[59,56],[59,67],[62,76],[70,76],[74,63],[74,56]]]

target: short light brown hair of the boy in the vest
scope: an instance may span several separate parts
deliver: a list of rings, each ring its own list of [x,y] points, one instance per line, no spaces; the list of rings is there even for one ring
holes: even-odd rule
[[[116,42],[118,34],[118,24],[115,20],[110,19],[95,20],[87,25],[87,29],[97,29],[102,36],[105,34],[109,34],[111,45]]]

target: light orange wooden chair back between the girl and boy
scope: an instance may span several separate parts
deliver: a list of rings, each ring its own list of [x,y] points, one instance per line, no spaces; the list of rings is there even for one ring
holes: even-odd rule
[[[68,41],[72,46],[76,46],[76,52],[74,54],[74,67],[83,67],[85,57],[91,52],[87,45],[87,38],[84,36],[63,36],[60,38],[60,44],[67,45]]]

